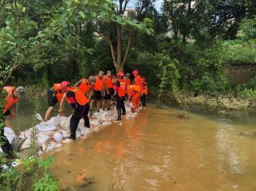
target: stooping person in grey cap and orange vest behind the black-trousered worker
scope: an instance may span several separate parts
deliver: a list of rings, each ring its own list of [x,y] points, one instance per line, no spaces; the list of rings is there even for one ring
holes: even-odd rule
[[[87,78],[82,78],[78,82],[75,83],[75,88],[78,88],[79,91],[82,91],[88,99],[91,99],[91,96],[93,94],[93,86],[95,83],[95,78],[94,76],[90,76],[88,79]]]

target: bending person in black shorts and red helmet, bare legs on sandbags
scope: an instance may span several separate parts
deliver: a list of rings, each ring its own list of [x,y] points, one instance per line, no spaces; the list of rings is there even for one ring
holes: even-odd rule
[[[66,93],[67,88],[69,87],[69,81],[62,81],[61,84],[53,84],[53,88],[51,88],[47,92],[47,100],[48,100],[48,110],[46,110],[46,114],[44,120],[47,121],[50,117],[50,113],[52,113],[56,103],[62,100],[63,95]]]

